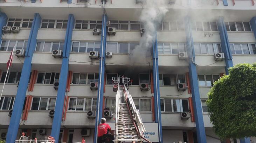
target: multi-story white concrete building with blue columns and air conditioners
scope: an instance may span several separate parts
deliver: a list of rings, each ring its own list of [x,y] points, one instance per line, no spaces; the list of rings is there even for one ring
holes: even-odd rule
[[[152,142],[220,143],[207,113],[207,92],[228,67],[256,61],[254,0],[165,2],[168,12],[150,52],[139,52],[146,55],[140,58],[133,50],[143,36],[140,14],[147,7],[141,0],[1,0],[0,28],[7,30],[0,32],[0,89],[11,51],[25,50],[23,57],[13,56],[0,101],[1,138],[11,143],[24,132],[71,143],[88,131],[86,142],[95,143],[104,108],[115,114],[112,77],[125,75],[133,80],[129,91]],[[93,34],[95,28],[101,33]],[[115,35],[108,28],[116,28]],[[62,58],[54,58],[53,50],[62,50]],[[90,59],[90,51],[99,58]],[[98,89],[91,90],[90,82],[98,82]],[[88,111],[97,111],[95,118],[87,118]],[[189,119],[181,119],[182,112]],[[114,128],[115,118],[108,122]],[[226,142],[250,140],[256,142]]]

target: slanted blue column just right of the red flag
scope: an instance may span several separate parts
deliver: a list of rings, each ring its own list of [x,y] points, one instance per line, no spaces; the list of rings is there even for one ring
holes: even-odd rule
[[[11,118],[8,132],[7,132],[7,137],[6,137],[7,143],[14,143],[17,137],[17,132],[20,125],[22,107],[25,100],[29,75],[32,67],[31,65],[32,57],[36,47],[36,36],[37,36],[38,29],[40,27],[40,24],[41,24],[41,17],[38,13],[36,13],[34,15],[32,28],[30,30],[30,34],[28,38],[28,46],[25,54],[25,61],[23,63],[23,68],[21,72],[20,84],[15,97],[12,118]]]

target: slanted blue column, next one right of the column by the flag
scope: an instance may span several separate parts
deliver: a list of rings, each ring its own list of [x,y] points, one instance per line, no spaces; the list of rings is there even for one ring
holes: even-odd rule
[[[62,111],[65,99],[65,90],[68,80],[68,64],[69,64],[69,53],[71,48],[71,40],[72,40],[72,32],[75,23],[75,18],[73,14],[68,15],[68,25],[65,36],[65,43],[63,47],[63,58],[61,65],[61,73],[60,73],[60,81],[59,88],[57,92],[56,105],[55,105],[55,113],[53,118],[53,126],[51,128],[51,136],[55,138],[55,142],[58,142],[61,122],[62,122]]]

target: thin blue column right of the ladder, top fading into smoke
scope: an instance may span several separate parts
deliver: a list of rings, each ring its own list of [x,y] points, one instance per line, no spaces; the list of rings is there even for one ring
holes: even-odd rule
[[[162,140],[162,119],[161,119],[160,90],[159,90],[157,34],[155,34],[154,41],[153,41],[153,81],[154,81],[155,122],[158,123],[158,141],[159,143],[162,143],[163,140]]]

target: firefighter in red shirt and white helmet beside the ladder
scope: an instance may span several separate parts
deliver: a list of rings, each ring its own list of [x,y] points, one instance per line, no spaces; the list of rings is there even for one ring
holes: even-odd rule
[[[109,124],[106,123],[106,118],[101,118],[101,124],[98,126],[98,143],[104,143],[103,135],[111,133],[114,135],[113,130],[111,130]]]

